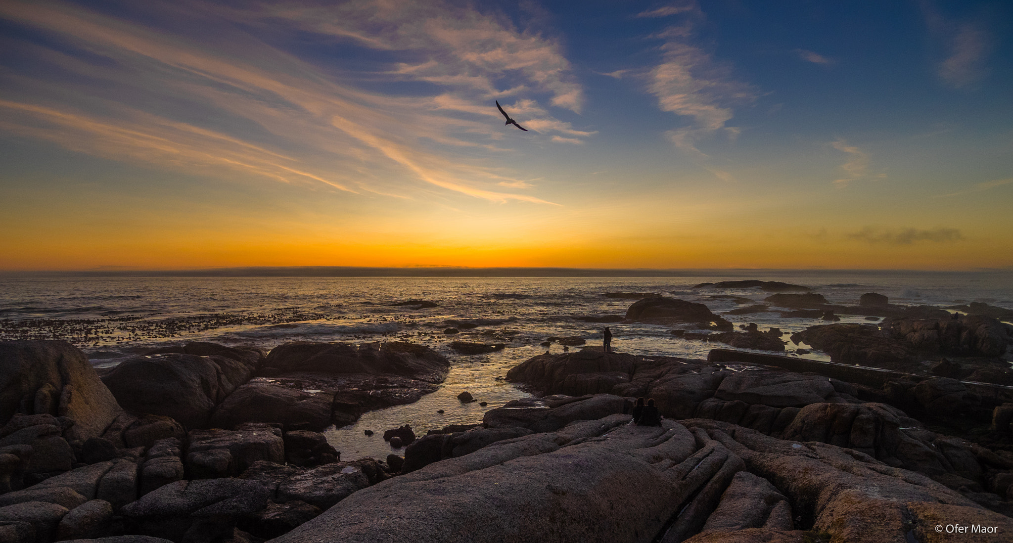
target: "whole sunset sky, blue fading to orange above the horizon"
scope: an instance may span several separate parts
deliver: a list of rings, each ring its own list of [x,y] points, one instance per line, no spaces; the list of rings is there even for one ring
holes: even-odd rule
[[[3,270],[1009,269],[1013,4],[4,0],[0,210]]]

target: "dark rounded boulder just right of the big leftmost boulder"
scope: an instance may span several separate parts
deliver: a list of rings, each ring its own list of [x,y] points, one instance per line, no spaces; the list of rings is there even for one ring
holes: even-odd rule
[[[215,405],[252,375],[243,362],[217,355],[147,355],[124,361],[102,378],[132,411],[204,428]]]

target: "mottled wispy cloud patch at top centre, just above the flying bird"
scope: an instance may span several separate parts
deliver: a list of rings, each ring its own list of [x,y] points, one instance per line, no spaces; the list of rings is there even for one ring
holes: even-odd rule
[[[262,2],[236,17],[286,21],[335,40],[354,40],[377,50],[421,56],[392,74],[477,91],[485,98],[525,89],[549,93],[549,103],[579,111],[583,89],[570,72],[559,43],[514,27],[509,18],[471,4],[441,0],[353,0],[312,5]]]

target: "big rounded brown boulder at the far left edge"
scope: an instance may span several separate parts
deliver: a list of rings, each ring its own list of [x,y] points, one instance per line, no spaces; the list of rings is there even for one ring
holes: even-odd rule
[[[67,416],[66,438],[100,437],[123,412],[87,357],[66,341],[0,341],[0,423],[15,412]]]

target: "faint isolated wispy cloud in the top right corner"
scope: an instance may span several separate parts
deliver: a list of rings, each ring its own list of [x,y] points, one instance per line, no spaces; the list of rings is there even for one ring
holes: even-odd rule
[[[984,24],[947,19],[927,0],[921,6],[925,23],[942,49],[936,75],[952,88],[981,81],[987,73],[985,61],[991,49],[991,36]]]

